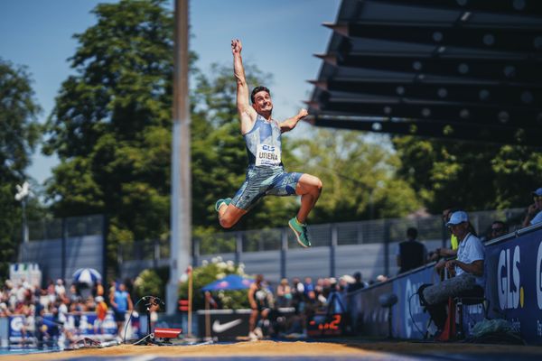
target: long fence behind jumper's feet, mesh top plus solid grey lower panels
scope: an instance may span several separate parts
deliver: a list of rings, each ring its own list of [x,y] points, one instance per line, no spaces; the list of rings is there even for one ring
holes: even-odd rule
[[[509,231],[513,232],[519,229],[524,215],[523,208],[470,212],[469,214],[473,227],[482,238],[487,235],[494,220],[507,222]],[[418,240],[426,241],[427,245],[449,246],[447,242],[450,239],[450,233],[444,227],[442,218],[431,216],[311,225],[309,226],[309,236],[313,244],[311,252],[318,254],[323,269],[327,269],[326,264],[332,264],[332,269],[340,270],[343,263],[353,262],[347,258],[358,257],[357,262],[361,262],[360,257],[366,256],[370,250],[374,257],[378,255],[381,271],[390,272],[395,267],[393,261],[395,244],[406,239],[408,227],[416,227]],[[264,261],[260,259],[264,256],[266,257],[264,264],[266,262],[275,264],[274,267],[277,270],[282,270],[280,273],[285,273],[292,264],[301,267],[306,263],[306,260],[294,260],[296,251],[289,252],[288,256],[285,256],[286,249],[299,248],[301,245],[297,244],[293,232],[288,227],[221,232],[192,238],[192,264],[198,265],[203,259],[222,255],[224,259],[245,264],[251,263],[254,271],[257,271],[264,267],[262,263]],[[380,251],[377,251],[378,249]],[[344,251],[347,254],[344,254],[343,250],[348,250]],[[306,251],[304,252],[306,254]],[[257,255],[258,253],[262,256]],[[317,256],[316,254],[312,256]],[[135,276],[145,268],[168,264],[169,240],[147,240],[122,245],[119,246],[118,257],[121,269],[124,270],[122,273],[125,276]],[[259,257],[259,261],[253,260],[254,257]],[[277,270],[274,269],[273,272],[277,273]],[[369,274],[369,271],[367,273]]]

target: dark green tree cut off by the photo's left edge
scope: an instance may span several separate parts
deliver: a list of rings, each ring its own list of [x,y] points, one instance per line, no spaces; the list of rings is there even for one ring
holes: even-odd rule
[[[16,240],[21,239],[21,206],[15,201],[15,184],[22,184],[24,170],[39,139],[36,117],[41,111],[33,97],[26,69],[0,59],[0,278],[13,261]]]

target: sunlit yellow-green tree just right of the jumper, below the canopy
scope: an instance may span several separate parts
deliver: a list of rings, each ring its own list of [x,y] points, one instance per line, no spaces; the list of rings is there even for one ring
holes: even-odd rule
[[[342,130],[318,130],[296,143],[300,171],[317,175],[322,196],[311,223],[406,216],[421,206],[415,191],[397,176],[401,162],[387,139]]]

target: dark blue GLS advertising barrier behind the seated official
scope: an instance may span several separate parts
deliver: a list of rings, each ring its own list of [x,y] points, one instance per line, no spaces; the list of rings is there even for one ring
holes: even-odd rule
[[[528,344],[542,345],[542,225],[522,229],[485,245],[486,292],[490,319],[507,319]],[[416,296],[424,283],[440,282],[428,264],[403,273],[388,282],[375,284],[348,296],[355,332],[368,336],[388,336],[388,309],[378,297],[393,292],[392,335],[395,338],[423,338],[429,315]],[[483,319],[481,305],[463,307],[463,332]]]

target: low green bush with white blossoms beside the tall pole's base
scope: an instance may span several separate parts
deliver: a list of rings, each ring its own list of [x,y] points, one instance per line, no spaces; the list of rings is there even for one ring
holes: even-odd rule
[[[203,261],[201,267],[196,267],[192,270],[192,309],[204,310],[205,299],[204,292],[201,289],[217,280],[221,280],[228,274],[238,274],[243,277],[248,277],[245,274],[244,264],[233,264],[233,262],[223,262],[222,258],[216,257],[210,263]],[[183,300],[188,300],[188,275],[184,274],[181,287],[179,289],[179,297]],[[240,291],[218,291],[213,292],[213,298],[220,301],[223,309],[237,310],[248,308],[248,296],[246,290]]]

